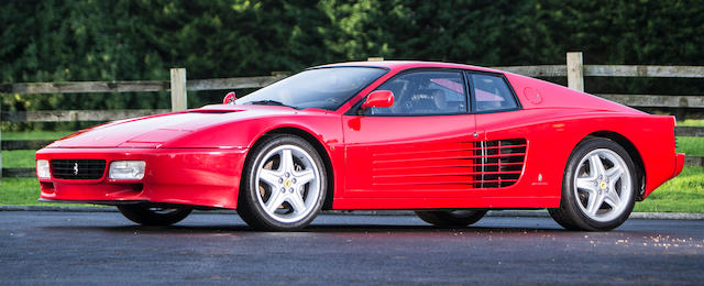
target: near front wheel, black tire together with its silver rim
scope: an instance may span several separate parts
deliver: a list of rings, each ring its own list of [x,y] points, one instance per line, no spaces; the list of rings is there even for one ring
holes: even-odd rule
[[[292,155],[293,168],[289,169],[296,169],[290,172],[290,179],[288,174],[286,177],[283,175],[278,177],[280,185],[260,179],[257,177],[261,175],[260,172],[282,172],[284,174],[286,167],[283,163],[283,154],[285,154],[283,152],[285,150],[289,150]],[[276,155],[277,152],[282,153]],[[271,169],[267,169],[267,166]],[[276,169],[273,169],[273,166],[277,166]],[[297,177],[297,174],[307,170],[311,170],[315,179],[295,185],[295,178],[301,178]],[[324,163],[310,143],[289,134],[268,136],[264,139],[263,143],[257,144],[248,156],[242,170],[238,213],[242,220],[256,230],[300,230],[310,224],[320,212],[326,199],[327,182]],[[279,193],[278,189],[284,190]],[[286,196],[286,198],[282,200],[279,206],[274,206],[273,210],[267,210],[267,204],[278,196]],[[296,204],[293,202],[294,196],[298,196],[302,205],[298,204],[296,207]]]

